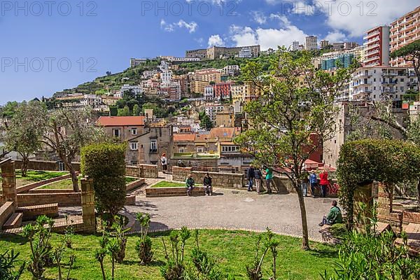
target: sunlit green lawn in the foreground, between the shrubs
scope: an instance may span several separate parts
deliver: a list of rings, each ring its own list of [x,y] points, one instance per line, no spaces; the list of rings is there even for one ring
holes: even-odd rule
[[[160,280],[160,265],[165,262],[164,248],[161,237],[169,244],[168,232],[152,235],[154,262],[149,266],[139,265],[139,258],[134,249],[137,235],[128,237],[126,258],[123,264],[116,265],[116,279],[150,279]],[[200,230],[200,248],[206,250],[216,259],[221,271],[231,273],[235,279],[246,279],[245,265],[251,264],[255,253],[255,241],[258,234],[244,231]],[[99,262],[94,259],[94,250],[99,247],[99,236],[75,235],[73,249],[66,249],[63,262],[68,261],[68,255],[76,254],[76,268],[71,272],[71,279],[102,279]],[[311,243],[312,251],[302,251],[301,239],[286,236],[276,236],[280,241],[277,258],[279,279],[320,279],[319,274],[324,269],[332,270],[332,263],[337,260],[337,249],[325,244]],[[52,236],[52,246],[57,246],[62,240],[61,235]],[[186,260],[190,265],[190,252],[194,248],[193,237],[186,244]],[[7,249],[20,252],[21,260],[29,260],[30,249],[26,239],[20,236],[0,236],[0,253]],[[262,265],[264,279],[268,279],[271,271],[271,255],[267,255]],[[110,276],[110,258],[106,257],[106,273]],[[47,268],[46,279],[57,279],[57,267]],[[290,277],[290,278],[289,278]],[[21,280],[31,279],[31,274],[25,272]]]

